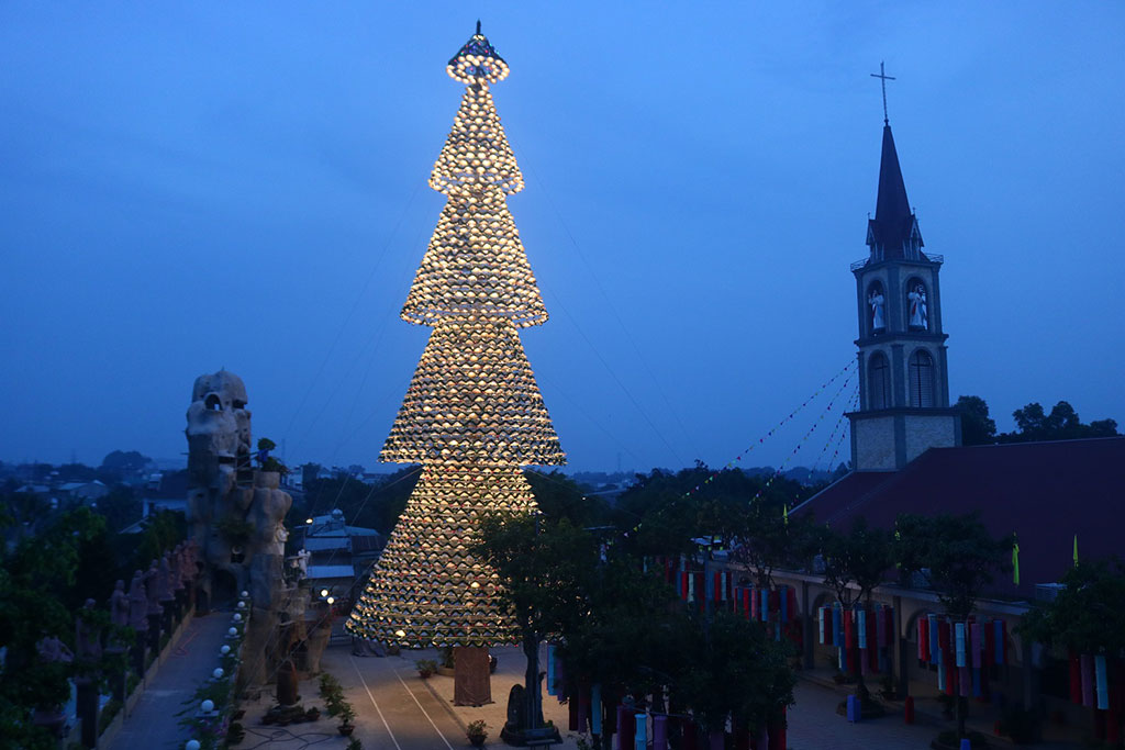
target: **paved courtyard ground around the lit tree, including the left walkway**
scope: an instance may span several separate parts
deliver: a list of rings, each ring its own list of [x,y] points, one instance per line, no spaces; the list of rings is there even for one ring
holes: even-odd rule
[[[115,748],[171,750],[181,748],[183,733],[172,714],[213,665],[217,639],[226,617],[210,617],[192,623],[176,659],[166,665],[150,686],[150,695],[138,704],[126,732]],[[215,631],[215,632],[212,632]],[[215,641],[215,642],[212,642]],[[467,748],[465,726],[484,720],[490,748],[506,747],[500,741],[504,724],[507,694],[522,684],[524,659],[516,648],[495,649],[498,668],[492,680],[493,703],[479,706],[454,706],[453,679],[436,675],[429,680],[418,678],[414,668],[417,659],[432,659],[434,651],[415,651],[398,657],[354,657],[346,645],[331,647],[324,653],[322,667],[341,683],[356,708],[354,737],[366,750],[453,750]],[[201,658],[206,657],[206,658]],[[198,672],[198,674],[196,674]],[[323,708],[314,680],[299,687],[302,702]],[[246,737],[238,748],[303,750],[315,744],[324,750],[343,750],[348,741],[336,731],[336,720],[323,716],[317,722],[291,724],[286,728],[264,726],[262,714],[273,704],[273,690],[268,686],[259,699],[246,703],[243,724]],[[919,722],[907,725],[901,712],[858,724],[848,723],[836,714],[840,693],[824,685],[802,680],[798,684],[796,705],[789,712],[789,748],[792,750],[924,750],[937,732],[948,724],[919,715]],[[551,696],[543,696],[543,714],[556,726],[567,725],[567,707]],[[564,742],[556,748],[577,750],[578,737],[564,732]],[[994,744],[1007,743],[997,738]],[[1061,750],[1078,746],[1040,744],[1040,750]]]

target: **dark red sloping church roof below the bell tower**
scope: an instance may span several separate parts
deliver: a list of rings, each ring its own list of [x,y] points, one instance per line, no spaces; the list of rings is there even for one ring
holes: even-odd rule
[[[1019,577],[992,594],[1034,598],[1035,584],[1058,581],[1079,557],[1119,554],[1125,510],[1125,437],[935,448],[899,472],[853,472],[792,513],[846,528],[865,516],[890,528],[900,513],[980,512],[996,536],[1016,533]]]

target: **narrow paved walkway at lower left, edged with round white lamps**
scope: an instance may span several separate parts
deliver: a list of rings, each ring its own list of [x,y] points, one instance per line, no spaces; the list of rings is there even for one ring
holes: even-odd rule
[[[216,612],[191,621],[160,671],[148,681],[110,750],[183,747],[187,731],[179,725],[180,717],[176,714],[218,665],[218,650],[230,620],[230,613]]]

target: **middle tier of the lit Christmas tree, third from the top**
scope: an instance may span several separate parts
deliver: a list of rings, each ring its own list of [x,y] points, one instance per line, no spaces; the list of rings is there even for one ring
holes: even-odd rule
[[[500,189],[452,192],[403,306],[403,319],[436,325],[451,315],[547,320],[520,232]]]

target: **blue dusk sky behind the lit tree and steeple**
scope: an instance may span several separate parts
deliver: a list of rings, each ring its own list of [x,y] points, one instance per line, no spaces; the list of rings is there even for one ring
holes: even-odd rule
[[[288,462],[376,467],[478,17],[574,468],[722,466],[855,359],[880,61],[952,398],[1125,423],[1125,3],[9,1],[0,459],[181,457],[225,367]],[[843,382],[742,463],[828,463]]]

